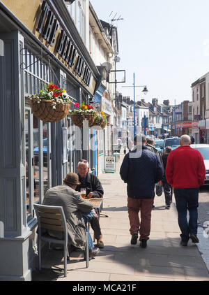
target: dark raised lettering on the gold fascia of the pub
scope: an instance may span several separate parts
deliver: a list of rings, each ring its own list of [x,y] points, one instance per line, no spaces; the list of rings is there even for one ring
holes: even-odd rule
[[[82,78],[82,81],[89,86],[91,70],[88,68],[81,55],[78,54],[77,48],[75,48],[75,45],[72,43],[72,40],[64,29],[61,29],[61,34],[59,34],[59,38],[57,38],[55,42],[55,36],[58,29],[58,20],[56,20],[56,17],[52,10],[50,10],[47,2],[43,1],[40,20],[36,31],[40,33],[42,38],[45,38],[49,45],[54,47],[54,52],[57,52],[70,68],[74,67],[75,73],[77,73],[77,75]]]

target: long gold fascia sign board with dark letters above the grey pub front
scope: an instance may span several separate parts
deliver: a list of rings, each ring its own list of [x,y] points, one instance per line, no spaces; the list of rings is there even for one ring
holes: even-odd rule
[[[33,0],[32,6],[27,2],[3,0],[15,16],[94,94],[96,80],[90,67],[47,1]]]

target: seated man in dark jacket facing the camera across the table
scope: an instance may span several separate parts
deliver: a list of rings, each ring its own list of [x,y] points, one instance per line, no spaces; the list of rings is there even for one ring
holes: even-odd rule
[[[82,188],[86,188],[86,196],[90,198],[102,198],[104,191],[102,189],[102,185],[100,180],[93,173],[89,173],[89,164],[86,160],[80,160],[77,165],[77,171],[79,175],[79,182],[81,185],[77,186],[77,191],[80,192]],[[96,214],[94,214],[91,219],[91,227],[95,234],[95,239],[97,240],[97,247],[103,248],[104,242],[102,237],[102,232],[100,229],[99,222],[100,212],[96,210]]]

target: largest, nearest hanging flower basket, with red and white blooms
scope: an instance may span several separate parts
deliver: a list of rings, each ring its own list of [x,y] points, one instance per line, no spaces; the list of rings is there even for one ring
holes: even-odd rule
[[[72,103],[65,89],[52,83],[45,85],[40,94],[29,96],[29,99],[33,115],[43,122],[59,122],[68,115]]]

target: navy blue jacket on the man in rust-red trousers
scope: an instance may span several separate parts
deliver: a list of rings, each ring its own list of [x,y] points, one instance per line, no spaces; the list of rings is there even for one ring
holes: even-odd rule
[[[135,157],[137,149],[125,155],[121,165],[122,180],[127,183],[127,196],[137,199],[152,199],[155,183],[162,180],[163,168],[159,157],[142,145],[141,154]]]

